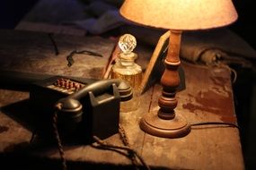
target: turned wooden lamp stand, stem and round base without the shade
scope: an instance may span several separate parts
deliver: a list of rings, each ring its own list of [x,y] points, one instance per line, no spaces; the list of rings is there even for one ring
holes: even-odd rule
[[[190,123],[175,113],[177,106],[176,89],[180,85],[178,68],[180,61],[181,30],[171,30],[168,53],[164,60],[165,70],[161,78],[162,95],[158,99],[158,112],[144,115],[139,123],[140,128],[151,135],[163,138],[181,138],[190,133]]]

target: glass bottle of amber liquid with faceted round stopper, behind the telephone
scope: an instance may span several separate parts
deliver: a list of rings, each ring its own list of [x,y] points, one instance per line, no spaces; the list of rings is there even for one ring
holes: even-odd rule
[[[132,52],[136,46],[136,38],[130,34],[124,34],[119,38],[121,53],[119,53],[116,63],[112,66],[110,77],[128,81],[133,89],[133,98],[126,102],[121,102],[120,112],[135,111],[140,104],[138,89],[142,81],[142,69],[140,65],[135,63],[137,54]]]

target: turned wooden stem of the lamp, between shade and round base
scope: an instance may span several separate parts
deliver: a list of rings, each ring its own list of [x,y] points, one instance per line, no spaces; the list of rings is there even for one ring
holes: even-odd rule
[[[158,116],[162,119],[175,117],[174,108],[177,106],[176,89],[180,85],[178,68],[180,61],[181,30],[171,30],[168,53],[164,60],[165,70],[161,78],[162,96],[158,99],[160,109]]]

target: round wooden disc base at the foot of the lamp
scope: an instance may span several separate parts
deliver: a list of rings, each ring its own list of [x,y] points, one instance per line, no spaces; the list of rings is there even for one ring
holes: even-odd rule
[[[139,126],[144,132],[163,138],[181,138],[190,133],[190,123],[179,114],[165,120],[157,113],[149,113],[140,120]]]

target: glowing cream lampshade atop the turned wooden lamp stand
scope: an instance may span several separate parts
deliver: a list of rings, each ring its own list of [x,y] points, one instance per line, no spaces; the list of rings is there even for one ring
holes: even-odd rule
[[[129,21],[170,30],[204,30],[236,21],[232,0],[126,0],[120,13]]]

